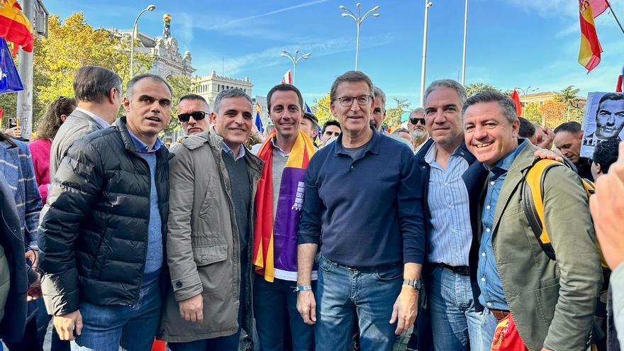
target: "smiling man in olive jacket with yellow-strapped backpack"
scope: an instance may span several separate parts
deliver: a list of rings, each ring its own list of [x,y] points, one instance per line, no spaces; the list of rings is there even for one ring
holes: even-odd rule
[[[602,275],[579,177],[567,167],[545,175],[545,228],[556,253],[550,260],[520,202],[523,176],[535,155],[528,140],[517,138],[515,104],[483,91],[466,101],[463,114],[466,145],[482,162],[467,174],[484,166],[488,171],[470,253],[478,263],[469,266],[476,267],[476,298],[484,306],[482,337],[492,340],[498,321],[508,318],[528,350],[586,350]]]

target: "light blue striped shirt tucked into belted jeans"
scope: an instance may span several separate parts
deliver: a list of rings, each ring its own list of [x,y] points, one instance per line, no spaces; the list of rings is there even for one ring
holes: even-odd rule
[[[428,205],[431,213],[428,261],[451,266],[467,266],[472,228],[468,206],[468,190],[462,174],[468,161],[457,148],[446,169],[435,162],[435,143],[431,144],[425,162],[430,165]]]

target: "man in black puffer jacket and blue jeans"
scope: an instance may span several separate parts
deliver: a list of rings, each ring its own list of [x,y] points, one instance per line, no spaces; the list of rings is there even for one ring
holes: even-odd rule
[[[41,223],[42,288],[60,338],[75,339],[77,350],[150,350],[168,284],[173,155],[157,135],[171,96],[162,77],[131,79],[127,117],[77,140],[55,174]]]

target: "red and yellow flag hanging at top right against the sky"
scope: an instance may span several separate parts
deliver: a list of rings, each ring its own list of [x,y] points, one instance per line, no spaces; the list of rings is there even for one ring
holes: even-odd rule
[[[594,25],[594,11],[589,0],[579,0],[579,19],[581,23],[581,50],[579,50],[579,63],[589,73],[600,63],[602,48],[596,34]]]

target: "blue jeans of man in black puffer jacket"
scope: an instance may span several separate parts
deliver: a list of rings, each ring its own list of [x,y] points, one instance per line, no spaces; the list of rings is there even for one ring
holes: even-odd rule
[[[160,322],[160,279],[140,289],[133,306],[100,306],[80,303],[82,333],[72,341],[72,351],[144,351],[152,348]]]

